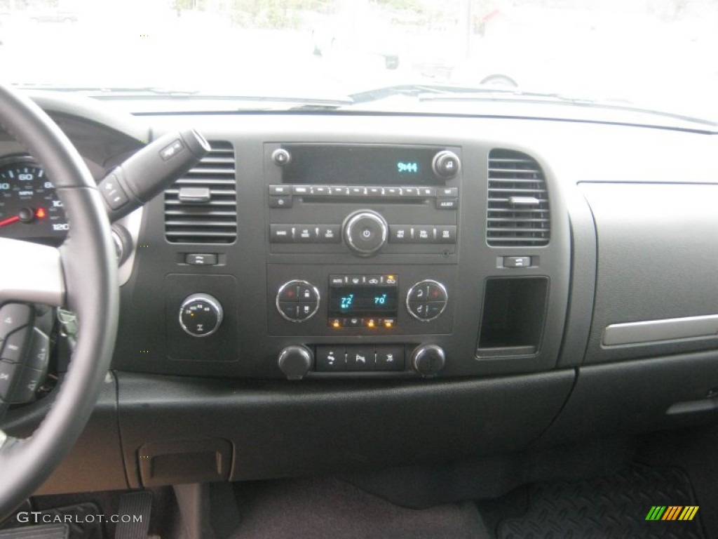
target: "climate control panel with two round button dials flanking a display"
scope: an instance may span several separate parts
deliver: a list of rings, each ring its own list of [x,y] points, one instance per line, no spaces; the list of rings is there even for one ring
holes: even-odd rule
[[[271,264],[270,331],[302,336],[450,333],[452,269],[402,270],[327,275],[323,267]]]

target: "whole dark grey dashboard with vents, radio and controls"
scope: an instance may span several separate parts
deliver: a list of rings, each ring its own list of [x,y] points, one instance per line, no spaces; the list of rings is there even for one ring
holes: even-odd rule
[[[98,182],[172,129],[211,148],[113,227],[112,376],[47,492],[70,474],[108,489],[368,470],[715,418],[715,132],[38,100]],[[52,180],[8,137],[0,159],[0,236],[62,241]]]

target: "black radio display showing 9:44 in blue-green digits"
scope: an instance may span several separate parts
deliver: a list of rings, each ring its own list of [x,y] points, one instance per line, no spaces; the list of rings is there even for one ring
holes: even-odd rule
[[[282,144],[292,156],[284,183],[319,185],[444,185],[432,161],[442,148]]]

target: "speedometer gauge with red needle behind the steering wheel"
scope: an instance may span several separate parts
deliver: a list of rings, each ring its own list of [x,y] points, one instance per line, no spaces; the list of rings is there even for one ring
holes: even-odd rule
[[[59,245],[67,218],[55,186],[31,157],[0,160],[0,237]]]

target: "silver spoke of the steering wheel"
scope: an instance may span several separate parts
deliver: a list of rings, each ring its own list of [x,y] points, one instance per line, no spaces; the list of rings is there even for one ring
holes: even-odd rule
[[[0,238],[0,254],[0,304],[9,300],[65,303],[65,273],[55,247]]]

